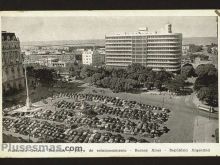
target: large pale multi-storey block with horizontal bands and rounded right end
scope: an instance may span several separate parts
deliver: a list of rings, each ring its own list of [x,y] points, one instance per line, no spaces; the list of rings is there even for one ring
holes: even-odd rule
[[[153,70],[177,72],[181,67],[182,34],[172,33],[171,24],[158,32],[140,28],[138,32],[105,36],[106,65],[126,67],[138,63]]]

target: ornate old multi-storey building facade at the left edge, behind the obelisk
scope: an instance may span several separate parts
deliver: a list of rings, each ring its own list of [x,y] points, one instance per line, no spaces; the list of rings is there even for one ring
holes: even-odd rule
[[[3,93],[25,86],[23,55],[15,33],[2,31],[2,87]]]

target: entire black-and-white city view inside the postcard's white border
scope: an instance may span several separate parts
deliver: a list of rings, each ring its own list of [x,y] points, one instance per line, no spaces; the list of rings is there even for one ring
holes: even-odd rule
[[[2,16],[3,143],[219,143],[217,16]]]

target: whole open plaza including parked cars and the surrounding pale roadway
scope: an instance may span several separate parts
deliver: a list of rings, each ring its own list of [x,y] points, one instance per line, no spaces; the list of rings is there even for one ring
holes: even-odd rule
[[[55,143],[215,142],[218,120],[198,111],[193,95],[113,93],[81,84],[77,92],[45,96],[30,110],[23,105],[4,109],[4,137],[15,137],[13,142]],[[204,115],[209,129],[197,119]]]

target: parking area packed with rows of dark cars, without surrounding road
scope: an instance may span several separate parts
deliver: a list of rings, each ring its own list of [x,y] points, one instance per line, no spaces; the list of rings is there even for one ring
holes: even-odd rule
[[[118,97],[70,92],[43,104],[35,112],[5,113],[3,132],[34,142],[146,143],[169,131],[169,109]]]

